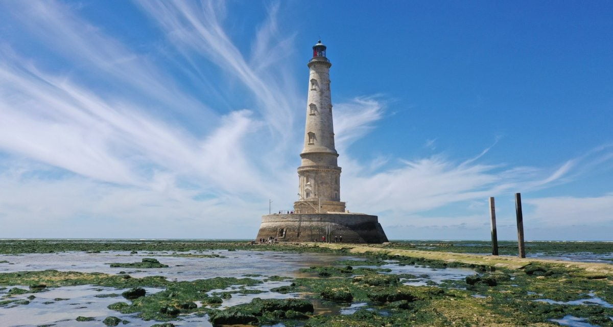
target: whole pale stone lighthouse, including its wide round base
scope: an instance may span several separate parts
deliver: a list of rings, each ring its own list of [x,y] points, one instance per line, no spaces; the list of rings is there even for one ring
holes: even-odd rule
[[[280,242],[350,243],[387,242],[377,216],[349,213],[340,201],[338,153],[334,147],[330,67],[326,45],[321,40],[313,46],[313,58],[307,64],[308,100],[305,141],[298,167],[298,201],[294,210],[262,216],[256,239]]]

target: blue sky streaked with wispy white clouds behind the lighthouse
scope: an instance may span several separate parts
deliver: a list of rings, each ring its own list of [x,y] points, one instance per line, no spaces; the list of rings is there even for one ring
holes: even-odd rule
[[[0,237],[253,238],[332,61],[341,199],[390,239],[611,240],[607,1],[0,2]]]

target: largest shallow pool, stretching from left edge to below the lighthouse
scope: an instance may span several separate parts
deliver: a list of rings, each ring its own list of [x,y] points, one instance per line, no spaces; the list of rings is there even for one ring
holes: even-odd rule
[[[154,252],[130,255],[129,251],[111,251],[108,253],[61,252],[61,253],[27,253],[23,255],[0,255],[0,260],[7,260],[11,265],[1,265],[0,272],[42,271],[56,269],[59,271],[104,272],[118,274],[128,272],[132,277],[161,275],[169,280],[196,280],[218,277],[242,278],[246,274],[299,276],[299,268],[324,266],[338,260],[356,260],[352,256],[338,256],[322,253],[280,253],[256,251],[203,251],[180,252],[180,254],[219,254],[226,258],[181,258],[169,255],[172,252]],[[138,269],[109,267],[108,263],[133,263],[142,258],[156,258],[168,268]],[[240,264],[237,264],[240,262]],[[138,272],[135,272],[138,271]],[[265,277],[263,277],[265,278]]]

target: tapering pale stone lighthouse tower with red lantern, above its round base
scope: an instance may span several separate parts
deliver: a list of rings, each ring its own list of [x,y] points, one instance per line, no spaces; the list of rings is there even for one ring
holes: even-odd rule
[[[340,201],[338,153],[334,147],[330,66],[326,45],[313,45],[313,58],[308,62],[309,82],[305,144],[298,167],[299,201],[294,202],[297,214],[345,212]]]

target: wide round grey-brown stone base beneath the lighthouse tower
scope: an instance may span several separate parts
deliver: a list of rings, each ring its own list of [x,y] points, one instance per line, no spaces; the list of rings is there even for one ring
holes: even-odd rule
[[[337,212],[333,214],[274,214],[262,216],[256,240],[276,237],[279,242],[321,242],[322,237],[343,243],[383,243],[387,236],[377,216]]]

